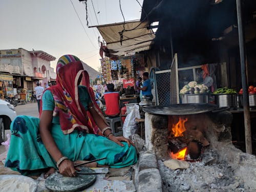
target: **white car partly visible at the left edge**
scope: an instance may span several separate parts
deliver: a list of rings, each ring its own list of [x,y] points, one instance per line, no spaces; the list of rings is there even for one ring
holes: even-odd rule
[[[0,99],[0,144],[5,140],[5,130],[10,129],[11,122],[16,116],[14,106]]]

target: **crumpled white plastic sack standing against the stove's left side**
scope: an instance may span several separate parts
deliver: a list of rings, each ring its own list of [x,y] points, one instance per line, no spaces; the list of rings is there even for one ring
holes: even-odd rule
[[[131,113],[129,113],[123,123],[123,137],[129,138],[137,130],[137,124],[135,119],[140,119],[139,105],[134,105]]]

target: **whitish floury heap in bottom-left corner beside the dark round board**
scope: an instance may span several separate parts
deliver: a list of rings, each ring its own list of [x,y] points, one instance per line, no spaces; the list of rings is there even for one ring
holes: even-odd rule
[[[34,192],[36,188],[36,182],[29,177],[19,175],[0,176],[1,192]]]

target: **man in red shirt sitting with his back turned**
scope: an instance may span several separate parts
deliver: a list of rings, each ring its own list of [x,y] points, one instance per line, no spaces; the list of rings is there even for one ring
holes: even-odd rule
[[[115,92],[114,84],[107,84],[108,92],[104,93],[104,99],[106,103],[106,111],[105,114],[108,117],[117,117],[120,114],[120,106],[119,106],[119,93]]]

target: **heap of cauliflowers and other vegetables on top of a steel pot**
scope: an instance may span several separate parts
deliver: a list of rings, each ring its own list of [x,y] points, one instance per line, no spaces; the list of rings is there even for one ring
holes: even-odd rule
[[[182,90],[180,90],[181,95],[185,94],[204,94],[208,92],[208,87],[205,84],[198,84],[197,81],[190,81],[186,84]]]

